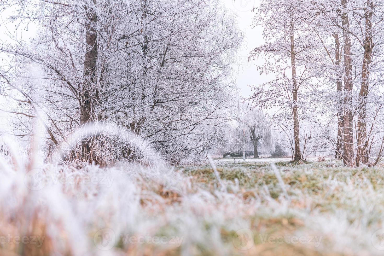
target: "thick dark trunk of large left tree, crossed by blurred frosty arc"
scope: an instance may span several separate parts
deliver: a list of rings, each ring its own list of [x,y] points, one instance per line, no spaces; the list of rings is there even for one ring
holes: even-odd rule
[[[93,0],[94,6],[86,6],[86,43],[87,48],[84,56],[84,83],[81,91],[80,103],[80,124],[82,126],[94,121],[92,109],[92,94],[96,86],[96,61],[97,61],[97,34],[96,22],[97,16],[94,11],[96,0]],[[82,159],[92,162],[91,159],[91,139],[86,138],[81,142]]]

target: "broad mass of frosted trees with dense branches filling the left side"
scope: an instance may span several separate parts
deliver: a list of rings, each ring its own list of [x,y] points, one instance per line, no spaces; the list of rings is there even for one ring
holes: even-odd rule
[[[1,46],[10,56],[1,71],[1,93],[14,102],[10,133],[32,135],[38,108],[48,148],[87,124],[113,122],[179,161],[204,154],[229,116],[242,35],[218,1],[7,0],[2,8],[14,11],[19,31],[36,30]],[[83,139],[67,158],[97,161],[100,138]],[[132,155],[114,141],[101,149]]]

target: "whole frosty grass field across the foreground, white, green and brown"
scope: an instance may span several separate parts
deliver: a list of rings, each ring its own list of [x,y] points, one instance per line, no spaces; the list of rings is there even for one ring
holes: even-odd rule
[[[3,161],[0,254],[383,254],[383,167],[213,163],[78,170]]]

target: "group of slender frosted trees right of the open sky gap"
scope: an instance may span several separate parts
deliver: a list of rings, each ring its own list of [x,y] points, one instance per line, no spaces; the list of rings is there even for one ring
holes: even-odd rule
[[[262,0],[253,9],[265,43],[249,59],[265,59],[258,68],[274,79],[253,86],[252,100],[273,112],[271,121],[285,133],[295,160],[303,159],[310,144],[316,150],[333,148],[350,167],[381,159],[383,5]]]

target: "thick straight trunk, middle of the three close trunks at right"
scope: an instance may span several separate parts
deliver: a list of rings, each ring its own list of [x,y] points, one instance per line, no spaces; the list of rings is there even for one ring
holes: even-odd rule
[[[346,11],[348,0],[341,0],[343,13],[341,23],[344,37],[344,154],[343,161],[347,166],[353,166],[353,114],[352,114],[352,60],[351,39],[349,37],[349,17]]]

